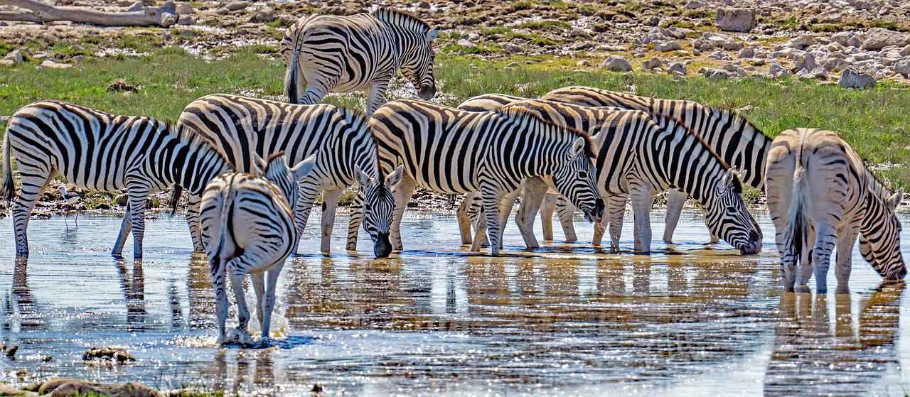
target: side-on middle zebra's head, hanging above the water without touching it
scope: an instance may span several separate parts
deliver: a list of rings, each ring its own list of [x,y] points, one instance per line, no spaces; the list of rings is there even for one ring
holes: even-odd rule
[[[560,194],[569,197],[584,213],[588,222],[600,223],[603,219],[603,198],[597,187],[597,169],[591,162],[593,151],[589,138],[580,136],[571,145],[562,164],[553,173],[553,185]]]

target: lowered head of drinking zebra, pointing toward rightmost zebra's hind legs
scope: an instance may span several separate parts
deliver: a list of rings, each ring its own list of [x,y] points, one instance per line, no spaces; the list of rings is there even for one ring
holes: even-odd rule
[[[716,189],[715,197],[703,203],[711,232],[738,248],[743,255],[762,251],[762,229],[743,202],[743,184],[736,171],[727,169],[713,188]]]

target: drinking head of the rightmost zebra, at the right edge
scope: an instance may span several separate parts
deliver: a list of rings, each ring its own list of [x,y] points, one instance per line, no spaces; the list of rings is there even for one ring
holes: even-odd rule
[[[904,256],[901,254],[901,223],[895,216],[895,208],[904,197],[904,189],[884,200],[884,205],[871,205],[860,226],[859,252],[887,280],[901,280],[907,273]],[[870,193],[870,200],[883,200]]]

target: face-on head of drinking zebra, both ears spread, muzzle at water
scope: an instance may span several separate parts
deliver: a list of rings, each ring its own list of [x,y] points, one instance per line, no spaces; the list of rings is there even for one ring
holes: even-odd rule
[[[385,178],[380,175],[379,183],[376,178],[360,170],[360,167],[355,171],[357,183],[363,192],[363,230],[369,233],[369,238],[373,241],[373,253],[377,258],[384,258],[392,253],[392,244],[389,243],[389,226],[395,209],[392,186],[401,180],[404,167],[399,166]]]

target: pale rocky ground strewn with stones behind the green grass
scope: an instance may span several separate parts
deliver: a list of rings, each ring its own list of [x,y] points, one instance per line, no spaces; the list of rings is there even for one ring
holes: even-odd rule
[[[66,2],[111,10],[133,3]],[[436,46],[442,53],[558,55],[577,59],[579,68],[715,78],[796,75],[824,82],[839,78],[848,67],[875,80],[907,83],[910,76],[910,35],[905,33],[910,2],[899,0],[178,2],[173,6],[177,24],[167,29],[0,23],[0,51],[7,53],[0,64],[32,59],[45,67],[67,67],[104,56],[141,56],[140,46],[128,39],[136,36],[212,57],[247,45],[277,49],[286,26],[301,15],[350,15],[379,5],[409,10],[440,28]],[[733,6],[745,10],[736,15],[724,10]],[[86,42],[86,37],[92,39]],[[33,49],[40,48],[35,42],[45,49]],[[50,51],[57,43],[70,45],[69,50]],[[855,84],[868,83],[861,79]]]

